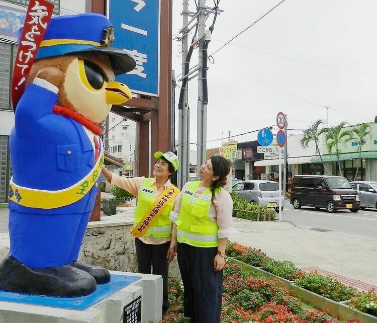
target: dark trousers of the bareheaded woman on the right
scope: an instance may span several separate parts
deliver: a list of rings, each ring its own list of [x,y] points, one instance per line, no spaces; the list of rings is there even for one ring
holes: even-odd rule
[[[196,323],[220,323],[223,271],[214,270],[215,248],[178,243],[177,257],[182,277],[184,316]]]

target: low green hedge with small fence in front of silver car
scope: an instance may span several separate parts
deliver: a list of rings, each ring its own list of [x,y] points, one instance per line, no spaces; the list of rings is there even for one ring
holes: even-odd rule
[[[236,192],[231,193],[233,200],[233,216],[251,221],[273,221],[276,212],[266,205],[257,205],[239,196]]]

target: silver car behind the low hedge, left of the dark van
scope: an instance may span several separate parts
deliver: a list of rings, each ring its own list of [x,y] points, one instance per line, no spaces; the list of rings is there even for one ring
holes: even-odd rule
[[[279,184],[272,181],[242,181],[233,185],[232,190],[250,202],[273,207],[279,211],[279,197],[282,192]],[[281,210],[284,209],[284,197],[281,196]]]

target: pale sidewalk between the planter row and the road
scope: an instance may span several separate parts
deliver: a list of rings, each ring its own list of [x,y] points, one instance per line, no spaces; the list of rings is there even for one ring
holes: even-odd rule
[[[261,249],[298,268],[316,267],[377,285],[377,239],[339,232],[318,232],[289,222],[252,222],[234,218],[239,234],[231,240]]]

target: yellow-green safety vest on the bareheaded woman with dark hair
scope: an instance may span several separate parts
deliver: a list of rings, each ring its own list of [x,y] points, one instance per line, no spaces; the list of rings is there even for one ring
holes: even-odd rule
[[[217,231],[219,226],[211,221],[209,212],[212,204],[211,188],[208,188],[199,196],[194,203],[191,203],[195,192],[202,181],[191,182],[181,194],[177,225],[177,240],[195,247],[217,247]],[[220,189],[217,189],[218,193]]]

